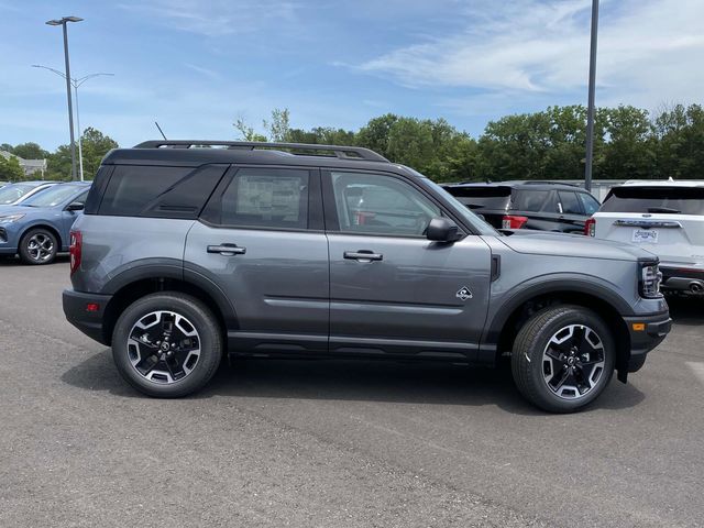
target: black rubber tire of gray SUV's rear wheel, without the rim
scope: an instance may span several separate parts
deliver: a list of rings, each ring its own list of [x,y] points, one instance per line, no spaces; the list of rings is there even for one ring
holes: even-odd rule
[[[183,380],[161,384],[144,378],[129,360],[128,338],[144,316],[160,310],[174,311],[190,321],[200,338],[198,362]],[[202,388],[215,374],[222,355],[222,338],[210,310],[195,298],[152,294],[130,305],[120,316],[112,334],[112,358],[122,377],[138,391],[154,397],[182,397]]]

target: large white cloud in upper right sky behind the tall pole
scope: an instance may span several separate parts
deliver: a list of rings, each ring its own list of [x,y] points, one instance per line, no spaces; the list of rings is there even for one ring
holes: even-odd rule
[[[475,2],[461,15],[462,32],[394,50],[358,68],[416,88],[465,87],[528,99],[542,94],[546,100],[582,95],[590,8],[590,0]],[[702,0],[602,1],[598,102],[653,108],[662,100],[700,98],[703,19]]]

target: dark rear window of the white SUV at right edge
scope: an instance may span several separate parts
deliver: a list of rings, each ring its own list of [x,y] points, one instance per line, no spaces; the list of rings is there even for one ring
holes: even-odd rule
[[[704,188],[615,187],[600,211],[704,215]]]

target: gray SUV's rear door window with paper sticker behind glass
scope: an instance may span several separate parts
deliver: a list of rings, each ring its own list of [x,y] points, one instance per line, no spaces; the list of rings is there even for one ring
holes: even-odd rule
[[[222,195],[227,226],[308,228],[308,170],[242,168]]]

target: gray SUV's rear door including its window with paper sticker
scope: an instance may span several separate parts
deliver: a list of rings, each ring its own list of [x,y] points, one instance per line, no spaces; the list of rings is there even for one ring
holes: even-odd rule
[[[233,351],[327,352],[328,241],[320,174],[307,167],[232,167],[188,232],[187,273],[232,302]]]

